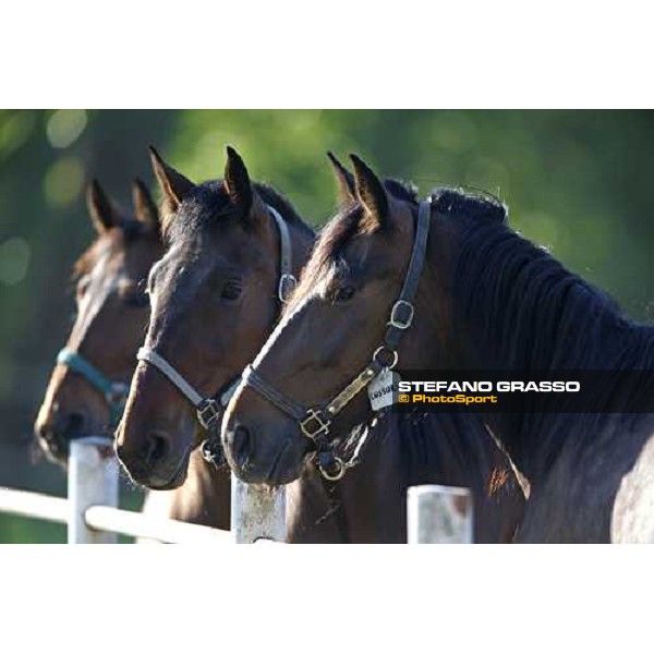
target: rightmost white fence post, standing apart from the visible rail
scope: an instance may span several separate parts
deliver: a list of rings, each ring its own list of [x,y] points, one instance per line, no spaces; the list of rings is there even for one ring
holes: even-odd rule
[[[468,488],[412,486],[407,495],[410,544],[472,543],[472,496]]]

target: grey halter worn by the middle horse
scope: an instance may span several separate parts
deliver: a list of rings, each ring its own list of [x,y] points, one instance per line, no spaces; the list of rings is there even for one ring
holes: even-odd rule
[[[293,276],[291,237],[284,219],[271,206],[268,206],[270,216],[275,219],[279,232],[279,282],[277,283],[277,298],[284,303],[293,292],[296,280]],[[219,391],[214,397],[205,397],[198,392],[186,378],[161,354],[150,348],[141,348],[136,354],[138,361],[145,361],[156,367],[164,374],[168,380],[195,407],[197,422],[206,432],[211,432],[216,426],[218,419],[222,415],[223,409],[229,403],[237,386],[241,382],[237,377],[223,391]],[[202,455],[206,461],[216,465],[221,465],[225,460],[220,441],[208,438],[202,445]]]

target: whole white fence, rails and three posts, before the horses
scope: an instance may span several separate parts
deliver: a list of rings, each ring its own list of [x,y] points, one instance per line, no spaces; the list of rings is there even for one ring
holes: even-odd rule
[[[113,543],[116,534],[164,543],[283,543],[286,489],[232,477],[231,531],[155,518],[118,507],[118,463],[111,441],[71,444],[68,499],[0,487],[0,512],[68,524],[69,543]],[[471,543],[472,500],[464,488],[415,486],[408,496],[409,543]]]

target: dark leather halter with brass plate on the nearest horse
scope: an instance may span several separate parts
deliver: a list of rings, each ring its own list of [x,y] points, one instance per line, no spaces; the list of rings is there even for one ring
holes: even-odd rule
[[[398,346],[407,329],[411,327],[415,313],[413,300],[425,263],[431,215],[431,199],[421,202],[409,269],[400,295],[390,310],[384,342],[374,351],[370,363],[336,397],[323,405],[306,407],[268,384],[252,364],[243,373],[244,386],[250,386],[282,413],[298,422],[301,432],[316,448],[320,474],[329,481],[341,479],[351,463],[340,459],[334,451],[334,444],[327,439],[331,421],[382,371],[392,370],[398,363]]]

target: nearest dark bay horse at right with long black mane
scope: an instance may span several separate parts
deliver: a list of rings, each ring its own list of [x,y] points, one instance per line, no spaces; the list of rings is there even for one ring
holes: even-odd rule
[[[385,342],[423,209],[398,202],[353,161],[359,202],[325,230],[255,360],[265,384],[243,382],[227,409],[223,446],[245,481],[289,482],[315,447],[267,389],[291,408],[325,407]],[[510,230],[502,205],[451,189],[431,201],[414,315],[401,318],[410,328],[396,351],[400,368],[652,370],[654,329]],[[626,391],[615,382],[602,391],[610,413],[569,412],[564,396],[560,413],[540,411],[547,399],[532,397],[524,411],[483,415],[531,484],[519,541],[654,540],[654,416],[631,412],[654,388]],[[360,393],[338,412],[330,437],[370,413]]]

